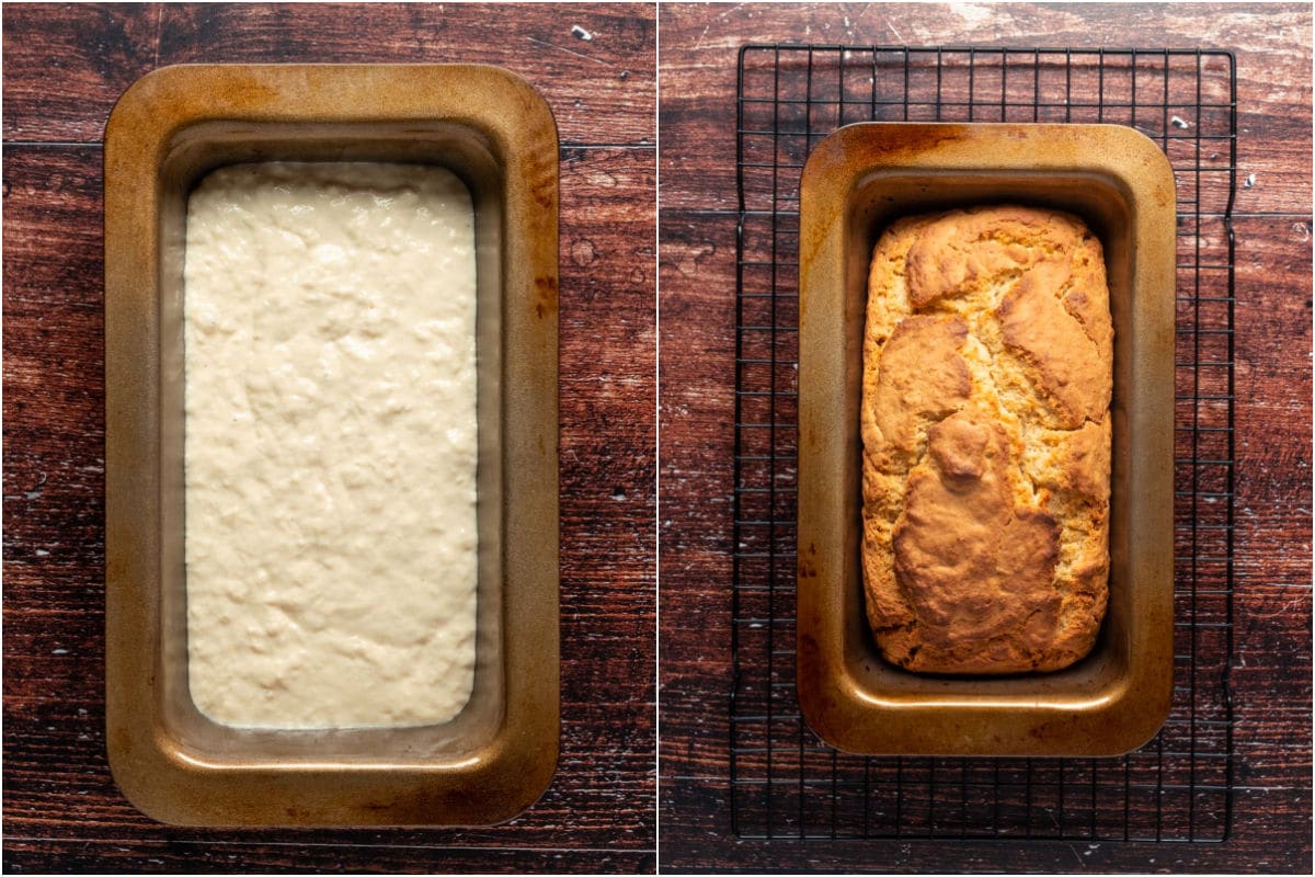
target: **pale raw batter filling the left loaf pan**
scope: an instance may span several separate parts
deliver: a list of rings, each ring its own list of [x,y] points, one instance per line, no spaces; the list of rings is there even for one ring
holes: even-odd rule
[[[417,164],[225,167],[185,256],[188,675],[242,727],[446,722],[475,668],[475,231]]]

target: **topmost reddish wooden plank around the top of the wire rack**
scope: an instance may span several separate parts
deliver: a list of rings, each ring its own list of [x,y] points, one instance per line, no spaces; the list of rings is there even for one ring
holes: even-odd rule
[[[1116,18],[1116,20],[1115,20]],[[1230,49],[1237,68],[1237,210],[1308,210],[1308,8],[1178,4],[756,4],[661,8],[661,204],[735,208],[735,72],[746,43]],[[1177,67],[1176,67],[1177,68]],[[1185,96],[1190,97],[1190,96]],[[1091,120],[1095,121],[1095,120]]]

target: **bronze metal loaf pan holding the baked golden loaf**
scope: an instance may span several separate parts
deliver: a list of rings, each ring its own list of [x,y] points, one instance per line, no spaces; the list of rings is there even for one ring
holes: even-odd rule
[[[1024,202],[1105,247],[1114,318],[1110,602],[1055,673],[948,677],[886,663],[864,615],[861,396],[867,272],[901,216]],[[1105,756],[1168,715],[1173,680],[1174,181],[1114,125],[861,124],[822,141],[800,204],[798,694],[809,726],[865,755]]]

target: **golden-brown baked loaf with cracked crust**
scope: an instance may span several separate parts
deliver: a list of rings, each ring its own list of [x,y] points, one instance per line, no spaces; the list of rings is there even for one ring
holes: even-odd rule
[[[1114,327],[1101,243],[1065,213],[909,217],[872,256],[863,571],[885,657],[1056,671],[1109,596]]]

